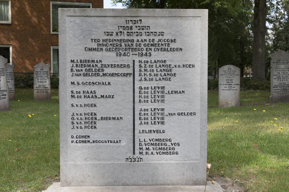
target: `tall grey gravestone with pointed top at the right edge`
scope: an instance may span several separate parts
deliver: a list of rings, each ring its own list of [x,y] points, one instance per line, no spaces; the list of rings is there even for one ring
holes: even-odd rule
[[[289,102],[289,53],[283,50],[269,55],[271,59],[270,103]]]

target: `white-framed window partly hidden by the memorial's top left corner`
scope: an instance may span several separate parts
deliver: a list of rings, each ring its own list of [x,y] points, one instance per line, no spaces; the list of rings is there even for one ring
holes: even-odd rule
[[[58,8],[91,8],[91,3],[50,1],[51,33],[58,34]]]

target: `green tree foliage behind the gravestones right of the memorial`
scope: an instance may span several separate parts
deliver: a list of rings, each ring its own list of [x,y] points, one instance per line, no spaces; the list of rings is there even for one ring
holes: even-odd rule
[[[112,0],[112,2],[122,3],[126,8],[139,9],[208,9],[209,75],[218,78],[218,68],[231,64],[240,67],[242,76],[245,69],[253,66],[254,0]],[[289,51],[289,0],[267,0],[266,5],[265,17],[267,24],[272,26],[272,33],[269,36],[270,34],[266,32],[265,54],[262,57],[266,58],[265,71],[268,73],[270,67],[268,55],[280,49]]]

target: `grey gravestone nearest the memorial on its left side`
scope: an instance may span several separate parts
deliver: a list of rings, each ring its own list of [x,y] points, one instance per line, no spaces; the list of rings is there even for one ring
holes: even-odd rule
[[[49,67],[42,62],[34,66],[34,100],[51,100]]]

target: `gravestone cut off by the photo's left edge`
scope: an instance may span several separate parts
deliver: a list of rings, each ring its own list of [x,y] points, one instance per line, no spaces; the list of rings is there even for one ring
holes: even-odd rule
[[[5,64],[8,59],[0,56],[0,111],[9,110],[9,90],[6,80]]]

